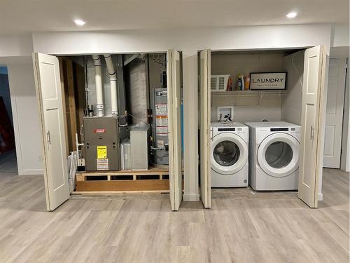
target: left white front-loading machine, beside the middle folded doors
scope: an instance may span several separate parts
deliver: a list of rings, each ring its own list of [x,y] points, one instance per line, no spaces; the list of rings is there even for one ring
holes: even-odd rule
[[[248,186],[248,127],[211,123],[211,187]]]

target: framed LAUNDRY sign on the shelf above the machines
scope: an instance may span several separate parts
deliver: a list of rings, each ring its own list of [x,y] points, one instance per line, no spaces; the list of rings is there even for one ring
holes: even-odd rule
[[[285,90],[287,72],[251,73],[251,90]]]

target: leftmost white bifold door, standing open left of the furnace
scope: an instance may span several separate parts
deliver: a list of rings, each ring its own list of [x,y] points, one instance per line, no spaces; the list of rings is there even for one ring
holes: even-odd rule
[[[55,56],[41,53],[33,54],[33,62],[43,139],[46,207],[52,211],[69,199],[59,62]]]

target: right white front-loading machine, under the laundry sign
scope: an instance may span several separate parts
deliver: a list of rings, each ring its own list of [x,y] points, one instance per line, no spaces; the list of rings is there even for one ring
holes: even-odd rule
[[[249,184],[256,191],[297,190],[300,126],[249,122]]]

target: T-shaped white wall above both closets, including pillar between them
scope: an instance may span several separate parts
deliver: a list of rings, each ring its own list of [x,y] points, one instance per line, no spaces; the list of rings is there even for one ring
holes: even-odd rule
[[[330,45],[331,25],[276,25],[112,32],[44,32],[33,34],[36,52],[92,53],[183,51],[184,169],[186,201],[199,199],[197,134],[197,51],[300,48]]]

